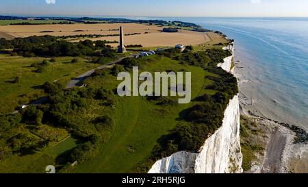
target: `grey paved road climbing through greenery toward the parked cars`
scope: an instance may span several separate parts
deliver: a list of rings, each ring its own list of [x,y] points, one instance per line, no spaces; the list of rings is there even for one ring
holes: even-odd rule
[[[84,80],[89,77],[90,75],[92,75],[95,71],[99,70],[99,69],[103,69],[103,68],[107,68],[108,66],[112,66],[114,64],[118,64],[119,62],[121,62],[124,58],[120,58],[119,60],[116,60],[114,62],[110,62],[109,64],[105,64],[103,66],[99,66],[97,68],[94,68],[90,71],[87,71],[86,73],[82,73],[81,75],[79,75],[78,77],[76,77],[75,79],[72,79],[70,82],[68,82],[68,84],[66,85],[66,88],[73,88],[75,86],[81,86],[82,82],[84,82]]]

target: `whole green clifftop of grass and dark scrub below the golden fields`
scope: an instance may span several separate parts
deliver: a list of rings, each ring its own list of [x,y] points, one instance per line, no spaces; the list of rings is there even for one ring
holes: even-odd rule
[[[1,71],[8,74],[1,74],[0,86],[12,91],[1,91],[1,96],[16,99],[33,92],[37,95],[32,99],[47,99],[12,114],[1,107],[0,172],[41,173],[54,164],[61,173],[143,173],[162,157],[198,151],[222,125],[229,99],[238,93],[235,77],[216,67],[231,55],[222,49],[188,47],[183,53],[166,49],[125,58],[95,71],[83,87],[65,88],[81,70],[116,59],[115,51],[103,41],[70,43],[52,36],[1,44],[12,49],[0,59],[6,64]],[[131,73],[133,66],[150,73],[192,72],[192,102],[178,104],[178,97],[119,97],[116,76]],[[14,68],[20,73],[14,74]],[[63,75],[68,71],[72,74]],[[54,81],[61,76],[64,79]],[[5,105],[5,100],[1,102]]]

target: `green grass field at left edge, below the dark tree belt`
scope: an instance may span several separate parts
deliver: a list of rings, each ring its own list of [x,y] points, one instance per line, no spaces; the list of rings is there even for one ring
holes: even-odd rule
[[[0,55],[0,113],[13,112],[18,105],[27,104],[31,99],[42,97],[44,92],[38,86],[44,82],[57,80],[62,84],[72,77],[98,66],[86,63],[80,59],[72,64],[72,58],[55,58],[56,62],[50,63],[43,73],[36,73],[36,68],[31,64],[50,60],[50,58],[23,58],[21,56]],[[20,82],[13,83],[15,77],[21,77]]]

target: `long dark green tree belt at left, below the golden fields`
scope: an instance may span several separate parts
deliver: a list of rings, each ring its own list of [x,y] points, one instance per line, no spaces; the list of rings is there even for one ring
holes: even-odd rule
[[[1,49],[14,49],[13,53],[27,57],[38,56],[80,56],[97,55],[114,58],[116,51],[105,41],[84,40],[80,42],[67,42],[57,40],[54,36],[31,36],[28,38],[15,38],[14,40],[0,40]]]

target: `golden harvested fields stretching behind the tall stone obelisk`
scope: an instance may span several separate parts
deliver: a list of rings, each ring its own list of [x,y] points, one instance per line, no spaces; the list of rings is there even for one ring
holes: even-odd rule
[[[125,36],[125,45],[142,45],[144,47],[167,47],[177,44],[199,45],[211,42],[211,38],[221,38],[218,34],[192,32],[179,30],[177,33],[161,32],[162,27],[155,25],[142,25],[137,23],[102,23],[102,24],[73,24],[73,25],[5,25],[0,26],[0,32],[15,37],[27,36],[73,36],[80,34],[118,34],[120,25],[123,25],[125,34],[136,34]],[[73,38],[71,41],[85,40],[88,38]],[[101,38],[89,38],[90,40],[118,40],[118,36],[107,36]],[[112,44],[116,47],[118,44]]]

